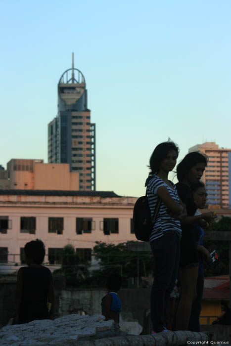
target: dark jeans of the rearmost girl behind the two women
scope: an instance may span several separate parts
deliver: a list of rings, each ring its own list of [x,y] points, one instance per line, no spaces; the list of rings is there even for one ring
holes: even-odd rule
[[[200,311],[201,311],[201,302],[204,290],[204,270],[203,268],[198,268],[198,277],[196,283],[196,299],[192,303],[191,315],[188,325],[188,330],[192,332],[200,331]]]

